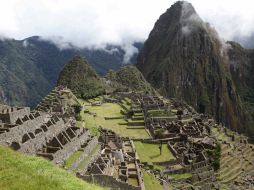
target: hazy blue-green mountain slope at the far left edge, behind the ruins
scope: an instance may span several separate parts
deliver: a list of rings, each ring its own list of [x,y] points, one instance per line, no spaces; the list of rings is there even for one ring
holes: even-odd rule
[[[0,41],[0,94],[1,100],[8,104],[35,104],[50,86],[29,53],[23,49],[22,43],[14,40]]]

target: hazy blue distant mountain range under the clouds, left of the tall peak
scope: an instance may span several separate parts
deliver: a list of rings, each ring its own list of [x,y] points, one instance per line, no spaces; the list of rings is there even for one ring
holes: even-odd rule
[[[142,43],[133,44],[140,49]],[[75,55],[91,63],[99,75],[117,70],[126,61],[121,46],[104,49],[75,48],[60,50],[54,43],[38,36],[24,40],[0,41],[0,102],[10,105],[35,106],[56,84],[64,64]],[[134,54],[128,63],[134,62]]]

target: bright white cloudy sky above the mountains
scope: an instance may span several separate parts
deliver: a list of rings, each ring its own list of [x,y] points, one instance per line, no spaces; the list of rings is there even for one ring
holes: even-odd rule
[[[0,36],[100,47],[144,41],[172,0],[0,0]],[[253,0],[190,0],[221,38],[254,33]],[[126,45],[127,44],[127,45]],[[64,46],[63,46],[64,47]]]

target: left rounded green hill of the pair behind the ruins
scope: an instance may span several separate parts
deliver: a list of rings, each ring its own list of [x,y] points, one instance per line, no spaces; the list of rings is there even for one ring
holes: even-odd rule
[[[91,98],[103,94],[101,78],[81,56],[75,56],[62,69],[57,85],[67,86],[78,98]]]

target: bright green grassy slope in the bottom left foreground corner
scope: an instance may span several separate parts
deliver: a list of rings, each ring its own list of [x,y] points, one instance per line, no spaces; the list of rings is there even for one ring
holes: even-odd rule
[[[1,190],[101,190],[51,162],[0,146]]]

